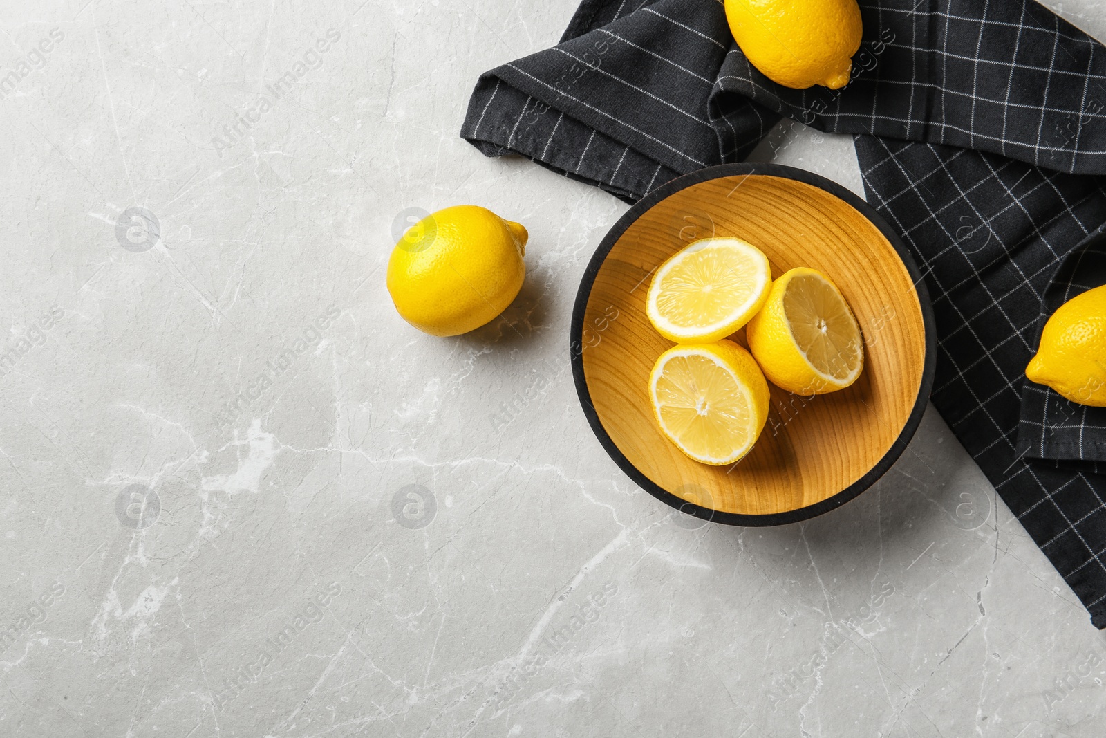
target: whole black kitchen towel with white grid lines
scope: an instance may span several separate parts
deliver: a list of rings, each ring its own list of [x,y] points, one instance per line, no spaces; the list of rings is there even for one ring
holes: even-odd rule
[[[1106,409],[1025,382],[1044,319],[1106,283],[1106,48],[1031,0],[860,0],[843,90],[789,90],[718,0],[584,0],[477,83],[461,135],[627,201],[742,160],[781,118],[854,135],[924,272],[932,402],[1106,627]]]

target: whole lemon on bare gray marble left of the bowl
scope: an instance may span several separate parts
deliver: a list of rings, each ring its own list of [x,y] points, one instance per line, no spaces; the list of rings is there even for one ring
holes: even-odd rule
[[[487,208],[458,205],[411,226],[388,259],[399,315],[431,335],[458,335],[511,304],[526,274],[526,229]]]

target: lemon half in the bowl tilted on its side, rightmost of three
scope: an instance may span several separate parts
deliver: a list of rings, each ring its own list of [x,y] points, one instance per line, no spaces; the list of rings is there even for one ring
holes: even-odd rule
[[[844,389],[864,368],[860,326],[837,285],[814,269],[775,280],[745,337],[764,376],[787,392]]]

